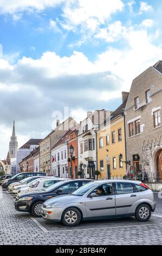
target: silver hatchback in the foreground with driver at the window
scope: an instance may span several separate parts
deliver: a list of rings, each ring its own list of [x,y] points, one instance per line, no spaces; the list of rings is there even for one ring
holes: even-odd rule
[[[81,220],[135,216],[148,221],[155,210],[154,194],[140,181],[92,181],[68,196],[55,197],[41,206],[45,220],[75,226]]]

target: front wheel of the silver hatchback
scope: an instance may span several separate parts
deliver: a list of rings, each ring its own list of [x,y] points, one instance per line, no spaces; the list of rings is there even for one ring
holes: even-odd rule
[[[67,208],[61,217],[61,221],[68,227],[74,227],[80,223],[82,216],[80,211],[74,207]]]

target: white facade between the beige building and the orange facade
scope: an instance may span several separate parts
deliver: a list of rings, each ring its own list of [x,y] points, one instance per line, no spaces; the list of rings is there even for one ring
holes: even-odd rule
[[[51,151],[51,161],[54,157],[54,162],[51,162],[52,174],[60,178],[68,178],[68,151],[67,142],[59,144]]]

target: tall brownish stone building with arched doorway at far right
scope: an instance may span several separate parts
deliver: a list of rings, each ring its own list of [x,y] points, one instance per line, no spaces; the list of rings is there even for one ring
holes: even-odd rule
[[[162,62],[136,77],[126,108],[127,169],[149,181],[162,180]]]

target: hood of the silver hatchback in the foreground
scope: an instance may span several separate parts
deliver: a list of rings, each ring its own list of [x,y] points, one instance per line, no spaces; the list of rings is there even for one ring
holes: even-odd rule
[[[79,199],[81,199],[81,198],[83,199],[83,196],[82,197],[80,197],[80,196],[71,196],[70,194],[68,194],[67,196],[58,196],[58,197],[48,199],[43,204],[48,205],[48,204],[51,204],[51,203],[63,203],[63,202],[68,203],[68,202],[71,202],[71,201],[73,201],[73,202],[78,201],[79,202]]]

